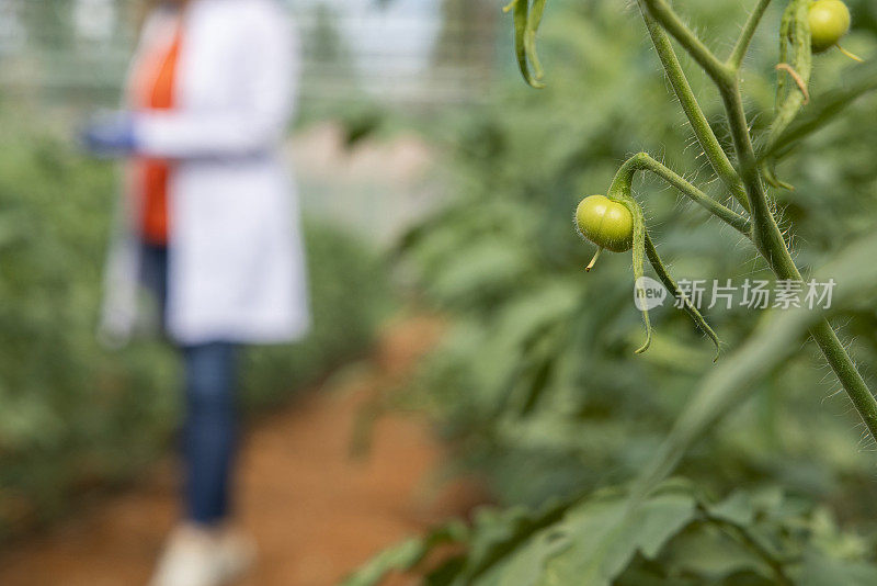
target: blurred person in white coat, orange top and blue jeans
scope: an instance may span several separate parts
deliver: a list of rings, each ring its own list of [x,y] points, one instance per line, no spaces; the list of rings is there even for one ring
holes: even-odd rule
[[[141,330],[140,289],[184,364],[184,518],[153,586],[210,586],[253,549],[230,528],[241,345],[286,342],[309,325],[297,204],[281,162],[297,59],[274,0],[151,2],[124,108],[83,131],[126,158],[101,331]]]

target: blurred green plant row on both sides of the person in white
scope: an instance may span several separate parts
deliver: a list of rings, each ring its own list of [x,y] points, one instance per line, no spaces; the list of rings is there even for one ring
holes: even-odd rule
[[[129,481],[166,453],[181,407],[175,353],[110,352],[95,338],[116,196],[113,167],[2,116],[0,139],[0,540]],[[243,401],[287,401],[371,345],[388,308],[381,261],[339,228],[306,223],[315,327],[248,351]],[[355,295],[351,295],[355,291]]]

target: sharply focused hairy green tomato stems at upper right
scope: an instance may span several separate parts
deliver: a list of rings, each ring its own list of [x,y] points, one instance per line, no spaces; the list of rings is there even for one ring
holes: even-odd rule
[[[721,204],[692,182],[649,157],[646,153],[633,156],[620,167],[610,187],[608,198],[613,201],[623,202],[631,210],[634,215],[633,257],[637,293],[645,293],[645,291],[641,291],[642,285],[640,282],[643,274],[642,264],[647,258],[667,289],[682,302],[681,306],[688,311],[697,326],[718,346],[718,340],[711,328],[706,325],[697,309],[690,304],[686,294],[675,286],[675,282],[659,257],[651,241],[649,229],[645,226],[642,204],[631,195],[633,177],[638,171],[658,176],[749,240],[778,280],[795,283],[804,281],[801,271],[794,260],[790,243],[787,241],[779,228],[776,205],[765,188],[765,180],[778,187],[788,185],[776,180],[770,159],[764,155],[760,156],[756,151],[741,91],[743,63],[755,32],[771,4],[771,0],[759,0],[756,2],[730,55],[725,59],[719,58],[707,47],[704,41],[685,24],[667,0],[637,0],[637,4],[670,86],[694,129],[696,139],[716,177],[722,181],[728,193],[737,202],[739,210],[734,211]],[[535,0],[531,5],[528,0],[514,0],[510,8],[514,8],[519,66],[524,79],[531,86],[537,89],[542,88],[544,86],[542,81],[543,69],[536,57],[534,38],[542,23],[545,1]],[[813,27],[811,26],[812,24],[817,25],[815,30],[811,30]],[[766,147],[764,148],[766,153],[771,153],[776,144],[783,142],[787,133],[791,132],[791,123],[798,116],[801,106],[809,102],[808,83],[813,44],[817,47],[822,47],[827,41],[836,43],[848,30],[848,11],[838,0],[818,0],[815,4],[811,3],[811,0],[789,0],[779,31],[779,58],[782,63],[777,65],[777,69],[779,70],[781,82],[777,91],[776,115],[771,124]],[[730,128],[732,146],[730,154],[720,144],[715,131],[704,115],[676,57],[671,38],[683,47],[718,90]],[[786,60],[790,63],[786,63]],[[533,65],[533,71],[531,71],[531,64]],[[785,75],[794,79],[795,87],[787,89],[784,86]],[[869,87],[870,89],[875,87],[873,79]],[[800,132],[798,128],[795,128],[795,131]],[[810,128],[811,131],[812,128]],[[734,162],[731,162],[731,157],[733,157]],[[648,309],[642,307],[641,311],[647,339],[638,352],[648,349],[651,341],[651,324]],[[867,429],[869,438],[877,441],[877,399],[875,399],[862,374],[856,369],[836,331],[827,318],[821,317],[810,324],[809,335],[819,346],[832,371],[846,391]],[[703,420],[709,419],[709,416],[704,413],[699,414],[699,416],[704,418]],[[691,421],[684,421],[684,418],[680,421],[683,428],[688,428],[685,433],[690,438],[692,433],[690,429]],[[698,431],[703,431],[703,428]],[[672,470],[675,462],[674,459],[677,458],[674,451],[679,450],[683,443],[684,441],[682,440],[675,442],[672,439],[669,440],[668,451],[662,458],[656,459],[649,470],[641,475],[643,484],[640,487],[641,494],[645,495],[649,487],[653,487]]]

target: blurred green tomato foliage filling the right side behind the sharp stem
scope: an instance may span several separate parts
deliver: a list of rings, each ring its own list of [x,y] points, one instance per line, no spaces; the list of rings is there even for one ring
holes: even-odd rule
[[[709,309],[725,342],[715,367],[691,319],[663,307],[653,315],[652,348],[634,356],[642,335],[629,257],[604,256],[594,272],[583,270],[593,248],[572,228],[576,204],[605,189],[637,150],[729,200],[697,157],[636,8],[622,4],[549,2],[539,41],[547,88],[528,91],[515,77],[493,103],[459,117],[447,161],[458,196],[400,245],[400,261],[453,327],[399,401],[436,418],[457,449],[455,466],[480,476],[497,508],[388,550],[351,585],[375,584],[391,568],[423,570],[443,543],[463,544],[464,553],[445,557],[425,583],[877,583],[874,446],[861,441],[861,421],[801,331],[778,340],[754,393],[688,451],[676,469],[685,480],[616,525],[625,512],[617,487],[652,461],[722,360],[736,362],[720,372],[750,367],[733,351],[764,322],[747,308]],[[740,2],[676,4],[709,31],[713,46],[730,47],[745,19]],[[850,4],[856,29],[847,44],[877,59],[877,11]],[[779,30],[784,7],[773,8],[743,82],[756,138],[774,108],[777,36],[770,31]],[[683,66],[695,69],[686,58]],[[850,84],[848,67],[840,54],[815,63],[811,108],[819,94]],[[729,142],[715,90],[705,76],[691,81]],[[856,100],[778,168],[796,189],[771,195],[808,274],[875,233],[875,109],[874,93]],[[640,180],[635,193],[677,278],[770,280],[740,235],[664,184]],[[844,274],[855,273],[847,267]],[[867,289],[834,318],[872,383],[875,298]]]

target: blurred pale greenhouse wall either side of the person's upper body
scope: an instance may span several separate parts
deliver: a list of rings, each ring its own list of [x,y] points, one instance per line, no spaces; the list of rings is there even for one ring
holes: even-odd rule
[[[423,109],[485,100],[501,18],[490,2],[286,4],[301,40],[306,106],[377,100]],[[140,13],[129,0],[2,0],[4,95],[114,105]]]

